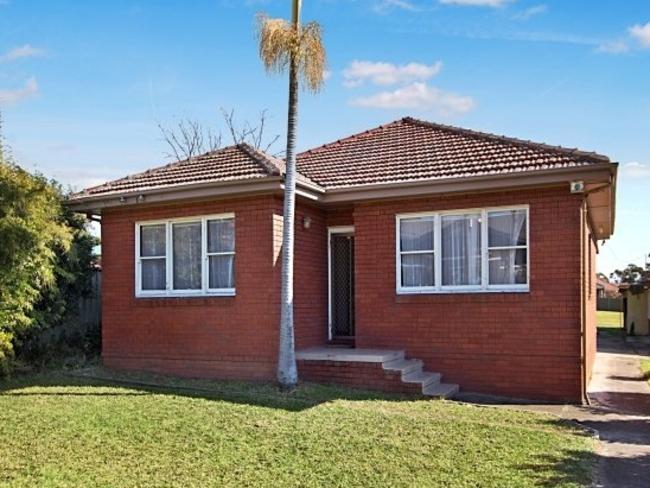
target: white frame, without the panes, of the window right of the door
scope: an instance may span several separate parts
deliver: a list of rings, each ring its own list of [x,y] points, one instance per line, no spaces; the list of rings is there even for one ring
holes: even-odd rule
[[[504,210],[525,210],[526,212],[526,245],[506,246],[503,249],[526,249],[526,283],[514,285],[490,285],[489,284],[489,250],[496,250],[502,247],[488,247],[488,214]],[[441,217],[444,215],[481,215],[481,284],[462,286],[442,286],[442,227]],[[433,269],[434,286],[402,286],[402,250],[400,239],[400,227],[403,219],[418,217],[431,217],[434,219],[433,226]],[[439,212],[414,212],[395,215],[395,283],[398,295],[421,295],[421,294],[444,294],[444,293],[522,293],[530,291],[530,208],[529,205],[510,205],[503,207],[468,208],[459,210],[444,210]],[[427,251],[430,252],[430,251]],[[408,252],[405,252],[408,253]]]

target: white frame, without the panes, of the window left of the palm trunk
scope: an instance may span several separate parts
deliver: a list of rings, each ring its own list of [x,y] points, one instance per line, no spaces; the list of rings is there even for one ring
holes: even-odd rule
[[[193,217],[182,217],[174,219],[147,220],[136,222],[135,224],[135,296],[136,298],[155,298],[155,297],[202,297],[202,296],[234,296],[236,288],[208,288],[208,261],[209,256],[217,255],[236,255],[237,242],[235,239],[235,250],[228,252],[211,252],[208,253],[208,221],[235,219],[234,213],[223,213],[215,215],[200,215]],[[174,252],[172,225],[186,222],[201,223],[201,289],[196,290],[174,290],[173,272],[174,272]],[[141,262],[143,259],[150,259],[151,256],[140,256],[140,228],[148,225],[165,224],[165,272],[166,285],[164,290],[143,290],[142,289],[142,272]],[[158,256],[158,259],[163,256]]]

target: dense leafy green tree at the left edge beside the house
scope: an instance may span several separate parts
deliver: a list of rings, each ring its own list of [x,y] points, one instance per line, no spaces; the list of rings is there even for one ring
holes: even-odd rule
[[[2,145],[2,144],[0,144]],[[95,239],[59,185],[0,151],[0,375],[38,330],[61,323],[90,271]]]

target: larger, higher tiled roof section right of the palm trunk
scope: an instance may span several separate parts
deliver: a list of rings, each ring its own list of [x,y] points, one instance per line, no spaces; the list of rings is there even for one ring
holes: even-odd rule
[[[406,117],[303,152],[298,171],[325,188],[585,166],[609,159]]]

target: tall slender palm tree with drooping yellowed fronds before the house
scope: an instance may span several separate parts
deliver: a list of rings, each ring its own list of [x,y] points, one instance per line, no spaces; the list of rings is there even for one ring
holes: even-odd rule
[[[291,23],[258,16],[259,54],[268,72],[289,70],[286,174],[284,182],[284,226],[282,229],[282,285],[278,382],[285,389],[298,382],[293,333],[293,255],[296,207],[296,132],[298,88],[304,82],[312,92],[323,85],[325,49],[316,22],[300,24],[301,0],[293,0]]]

